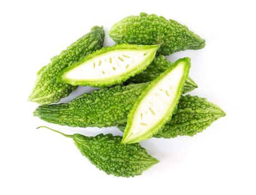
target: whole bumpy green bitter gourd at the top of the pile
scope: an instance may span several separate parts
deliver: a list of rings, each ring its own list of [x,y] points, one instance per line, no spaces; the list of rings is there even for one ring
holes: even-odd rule
[[[162,55],[205,47],[205,40],[186,26],[172,19],[167,20],[162,16],[147,13],[123,18],[110,29],[109,36],[116,43],[161,44],[158,54]]]

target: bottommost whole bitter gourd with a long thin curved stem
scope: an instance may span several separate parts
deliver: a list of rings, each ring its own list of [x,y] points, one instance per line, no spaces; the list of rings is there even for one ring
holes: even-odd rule
[[[112,134],[99,134],[97,136],[66,135],[59,131],[56,132],[67,138],[72,138],[81,154],[88,158],[92,164],[105,173],[117,177],[138,176],[144,170],[159,162],[138,143],[121,144],[121,136],[113,136]]]

